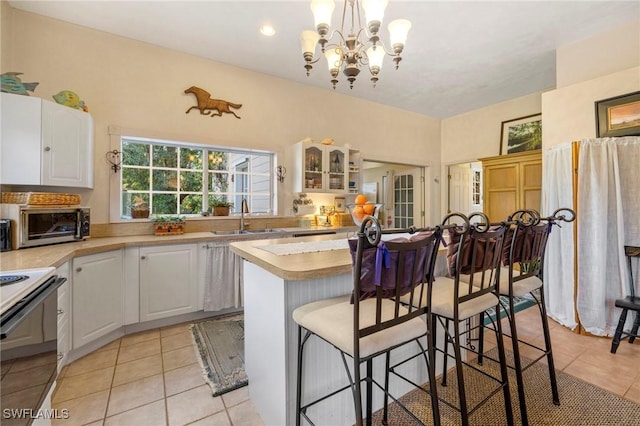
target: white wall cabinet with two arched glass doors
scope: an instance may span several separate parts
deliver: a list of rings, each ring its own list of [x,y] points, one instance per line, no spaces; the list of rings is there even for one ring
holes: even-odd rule
[[[293,161],[294,192],[347,193],[347,148],[298,142],[293,146]]]

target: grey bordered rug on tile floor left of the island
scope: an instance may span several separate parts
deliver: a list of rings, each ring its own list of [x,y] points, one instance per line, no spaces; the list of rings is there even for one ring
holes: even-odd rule
[[[224,316],[191,324],[196,355],[213,396],[249,383],[244,371],[244,317]]]

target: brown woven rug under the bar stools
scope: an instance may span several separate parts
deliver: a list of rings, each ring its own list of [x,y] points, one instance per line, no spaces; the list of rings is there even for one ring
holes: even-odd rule
[[[497,355],[494,349],[492,356]],[[509,362],[513,357],[507,353]],[[497,356],[496,356],[497,358]],[[529,364],[530,361],[523,358]],[[497,364],[485,361],[485,368],[491,374],[497,374]],[[512,363],[510,365],[513,365]],[[470,368],[465,368],[465,390],[469,407],[486,397],[490,390],[497,387],[497,383],[487,379]],[[546,364],[537,362],[524,372],[525,394],[527,401],[527,417],[529,424],[547,426],[602,426],[602,425],[637,425],[640,424],[640,405],[621,396],[615,395],[597,386],[583,382],[569,374],[556,372],[560,405],[554,405],[551,399],[549,384],[549,369]],[[453,404],[458,403],[458,388],[455,369],[449,370],[448,385],[443,387],[438,382],[438,396]],[[521,425],[518,391],[515,374],[509,369],[509,387],[513,404],[513,416],[516,425]],[[431,402],[428,394],[414,390],[400,398],[419,419],[425,424],[433,424],[431,416]],[[459,425],[460,413],[439,403],[440,417],[443,425]],[[380,425],[382,412],[373,415],[373,424]],[[389,425],[415,425],[400,407],[395,404],[389,406]],[[470,424],[478,426],[506,425],[504,399],[502,391],[493,395],[470,416]]]

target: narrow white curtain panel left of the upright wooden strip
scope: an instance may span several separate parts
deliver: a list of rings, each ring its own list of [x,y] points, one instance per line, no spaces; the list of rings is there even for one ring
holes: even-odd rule
[[[544,151],[542,175],[543,216],[573,206],[571,144]],[[554,227],[549,235],[544,264],[544,296],[547,314],[572,330],[578,325],[574,302],[573,224]]]

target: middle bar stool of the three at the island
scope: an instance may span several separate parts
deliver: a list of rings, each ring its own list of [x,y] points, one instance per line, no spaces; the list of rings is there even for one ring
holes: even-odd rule
[[[464,215],[459,213],[450,214],[444,218],[443,225],[455,217],[464,217]],[[468,230],[464,231],[458,228],[449,230],[450,243],[447,249],[447,256],[452,277],[436,277],[433,282],[433,290],[430,292],[431,301],[428,314],[433,320],[429,321],[428,324],[433,327],[430,330],[430,334],[435,351],[444,354],[442,385],[447,385],[447,361],[449,357],[455,361],[458,381],[459,403],[457,406],[450,401],[439,399],[459,411],[462,425],[466,426],[469,424],[471,413],[502,390],[506,423],[512,425],[513,412],[500,322],[496,321],[494,328],[496,341],[498,342],[499,376],[493,376],[479,369],[462,357],[462,349],[471,351],[469,347],[465,347],[462,341],[462,337],[470,335],[471,330],[461,329],[461,324],[466,323],[468,318],[478,316],[488,309],[495,309],[499,317],[501,310],[497,296],[497,284],[507,225],[491,226],[489,219],[483,213],[474,213],[469,217],[469,220],[474,217],[479,218],[480,222],[471,224]],[[466,278],[466,282],[461,279],[463,276]],[[406,296],[402,300],[410,303]],[[444,329],[443,348],[436,347],[436,323],[439,323]],[[449,354],[449,345],[453,347],[453,355]],[[473,407],[469,407],[467,401],[464,386],[464,366],[480,372],[480,374],[493,379],[498,384],[495,389],[490,390],[488,395]]]

